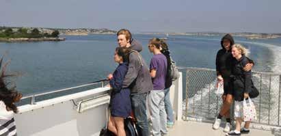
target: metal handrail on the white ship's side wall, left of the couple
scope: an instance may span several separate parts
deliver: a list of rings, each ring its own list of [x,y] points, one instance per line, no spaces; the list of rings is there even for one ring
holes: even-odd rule
[[[96,85],[96,84],[98,84],[98,83],[101,83],[101,87],[104,87],[104,82],[105,82],[105,81],[108,81],[108,79],[102,79],[102,80],[90,82],[90,83],[87,83],[87,84],[84,84],[84,85],[75,86],[75,87],[68,87],[68,88],[65,88],[65,89],[62,89],[62,90],[53,90],[53,91],[42,92],[42,93],[37,93],[37,94],[29,94],[29,95],[27,95],[27,96],[23,96],[23,98],[21,98],[21,100],[27,99],[27,98],[31,98],[30,104],[31,104],[31,105],[35,105],[35,98],[36,98],[37,96],[44,96],[44,95],[46,95],[46,94],[53,94],[53,93],[56,93],[56,92],[64,92],[64,91],[66,91],[66,90],[73,90],[73,89],[76,89],[76,88],[79,88],[79,87],[85,87],[85,86],[90,86],[90,85]]]

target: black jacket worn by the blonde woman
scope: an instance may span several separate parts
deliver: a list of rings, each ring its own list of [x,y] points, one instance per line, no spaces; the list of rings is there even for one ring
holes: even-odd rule
[[[242,55],[242,57],[234,61],[232,68],[232,85],[234,89],[235,100],[242,101],[244,93],[249,93],[252,87],[252,71],[245,71],[243,67],[250,62],[250,59]]]

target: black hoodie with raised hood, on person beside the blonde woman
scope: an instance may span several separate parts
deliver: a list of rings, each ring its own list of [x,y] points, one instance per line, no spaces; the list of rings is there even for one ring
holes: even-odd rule
[[[230,41],[230,51],[226,51],[224,48],[223,41],[225,39]],[[235,41],[233,40],[232,36],[230,34],[226,34],[221,41],[222,49],[217,52],[217,57],[215,59],[217,75],[220,74],[223,78],[229,78],[231,74],[231,67],[234,59],[231,54],[231,46],[233,44],[235,44]]]

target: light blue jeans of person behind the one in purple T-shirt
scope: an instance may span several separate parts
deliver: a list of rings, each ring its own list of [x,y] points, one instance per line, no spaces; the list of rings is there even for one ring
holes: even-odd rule
[[[172,122],[174,124],[174,113],[170,101],[170,88],[165,89],[164,93],[165,93],[164,103],[165,103],[165,110],[167,113],[167,122]]]

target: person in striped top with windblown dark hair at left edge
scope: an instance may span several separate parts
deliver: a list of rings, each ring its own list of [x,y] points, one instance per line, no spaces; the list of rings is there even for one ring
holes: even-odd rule
[[[16,92],[15,87],[8,87],[6,79],[13,77],[13,74],[5,74],[8,65],[2,66],[3,58],[0,60],[0,135],[16,135],[16,124],[14,113],[18,112],[14,103],[18,102],[23,96]]]

